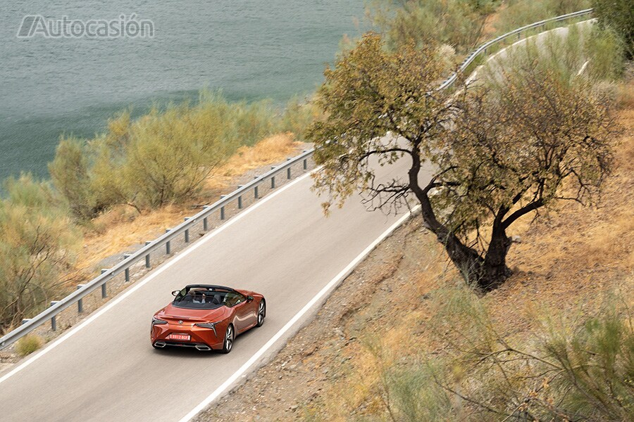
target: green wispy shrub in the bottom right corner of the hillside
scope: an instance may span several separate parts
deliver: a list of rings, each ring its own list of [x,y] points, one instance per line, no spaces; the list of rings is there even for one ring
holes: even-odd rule
[[[631,320],[609,309],[580,328],[549,333],[542,350],[549,366],[550,394],[557,409],[597,421],[634,420],[634,327]],[[545,365],[542,365],[542,367]],[[555,415],[554,409],[544,409]]]

